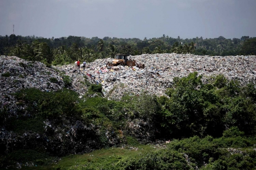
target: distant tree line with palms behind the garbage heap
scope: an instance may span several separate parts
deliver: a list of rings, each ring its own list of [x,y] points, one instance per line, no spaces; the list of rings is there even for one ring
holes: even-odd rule
[[[202,37],[192,39],[159,38],[140,40],[138,38],[98,37],[86,38],[68,36],[43,38],[35,36],[0,36],[0,55],[18,56],[23,59],[42,61],[45,64],[65,64],[82,59],[114,57],[117,53],[139,55],[143,53],[194,53],[196,55],[256,55],[256,38],[242,36],[240,39],[213,39]]]

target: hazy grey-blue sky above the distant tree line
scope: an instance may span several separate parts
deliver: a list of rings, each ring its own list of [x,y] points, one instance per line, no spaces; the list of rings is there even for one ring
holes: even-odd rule
[[[256,37],[256,0],[0,0],[0,35]]]

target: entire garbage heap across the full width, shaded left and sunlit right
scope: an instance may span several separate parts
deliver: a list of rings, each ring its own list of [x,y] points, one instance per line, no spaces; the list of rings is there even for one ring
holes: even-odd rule
[[[84,95],[88,86],[84,76],[94,84],[102,85],[105,97],[119,100],[126,93],[140,94],[145,91],[157,96],[165,95],[166,88],[172,86],[174,77],[188,76],[197,71],[206,83],[209,76],[223,74],[228,79],[237,79],[242,85],[256,81],[256,56],[198,56],[193,54],[142,54],[132,56],[137,63],[145,64],[144,69],[128,66],[106,68],[113,59],[96,59],[87,63],[85,70],[75,70],[74,64],[53,66],[26,61],[15,56],[0,56],[0,109],[8,106],[10,116],[17,110],[24,109],[16,105],[17,99],[12,95],[23,88],[37,88],[50,92],[63,89],[62,76],[54,68],[70,76],[71,90],[80,96]],[[9,73],[9,76],[2,76]],[[58,83],[49,79],[56,78]],[[25,113],[26,114],[26,113]]]

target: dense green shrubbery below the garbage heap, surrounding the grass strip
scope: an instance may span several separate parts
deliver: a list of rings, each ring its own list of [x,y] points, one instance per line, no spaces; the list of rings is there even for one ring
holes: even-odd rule
[[[17,137],[20,142],[8,146],[0,143],[1,167],[15,162],[45,165],[56,156],[85,153],[90,151],[87,147],[129,144],[131,139],[142,144],[171,142],[166,149],[88,161],[79,168],[246,170],[256,166],[252,149],[256,143],[254,83],[242,86],[219,75],[203,84],[194,72],[174,78],[172,88],[166,91],[168,97],[145,92],[111,101],[101,97],[101,85],[91,85],[84,99],[68,89],[50,93],[23,89],[14,95],[19,105],[27,107],[15,118],[1,110],[4,119],[0,125],[17,136],[30,136]],[[242,149],[231,151],[228,147]]]

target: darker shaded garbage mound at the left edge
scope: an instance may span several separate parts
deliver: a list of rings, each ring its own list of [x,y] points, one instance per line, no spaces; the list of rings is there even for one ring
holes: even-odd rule
[[[9,109],[9,116],[24,109],[16,104],[12,95],[23,88],[41,91],[57,91],[64,87],[62,77],[52,68],[40,62],[29,62],[18,57],[0,56],[0,110]],[[52,83],[55,82],[55,83]]]

